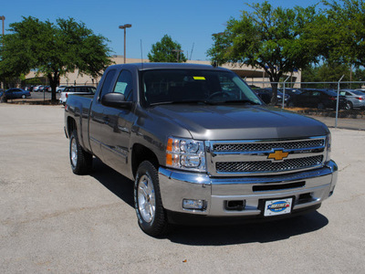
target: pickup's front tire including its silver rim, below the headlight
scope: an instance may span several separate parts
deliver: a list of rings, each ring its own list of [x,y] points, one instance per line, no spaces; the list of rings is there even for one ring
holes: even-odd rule
[[[162,237],[168,231],[166,212],[162,206],[159,177],[149,161],[140,164],[134,181],[134,207],[138,224],[144,233]]]

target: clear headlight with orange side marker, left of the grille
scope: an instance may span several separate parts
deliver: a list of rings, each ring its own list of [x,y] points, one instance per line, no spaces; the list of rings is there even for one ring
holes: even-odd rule
[[[166,166],[192,171],[205,171],[203,141],[171,137],[166,146]]]

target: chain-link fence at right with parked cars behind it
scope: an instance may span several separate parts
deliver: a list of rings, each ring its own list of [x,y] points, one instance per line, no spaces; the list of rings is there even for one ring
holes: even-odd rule
[[[342,79],[342,78],[341,78]],[[277,108],[296,111],[325,122],[329,127],[365,131],[365,82],[279,82]],[[266,103],[270,82],[247,82]]]

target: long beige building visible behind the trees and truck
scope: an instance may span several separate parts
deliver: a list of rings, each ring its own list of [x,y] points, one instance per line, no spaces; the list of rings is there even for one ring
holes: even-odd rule
[[[115,64],[123,64],[124,58],[122,56],[113,56],[112,61]],[[141,58],[127,58],[126,63],[148,63],[148,59]],[[211,65],[210,61],[199,61],[199,60],[188,60],[187,63],[192,64],[202,64],[202,65]],[[255,85],[260,88],[270,87],[270,80],[267,78],[263,68],[251,68],[247,66],[238,66],[235,64],[224,64],[223,68],[228,68],[234,71],[238,76],[245,79],[248,85]],[[299,87],[299,83],[301,81],[301,72],[293,72],[290,75],[290,79],[287,80],[287,83],[293,83],[294,87]],[[30,72],[26,75],[26,79],[32,79],[36,77],[35,72]],[[287,77],[286,77],[287,78]],[[74,73],[69,73],[67,76],[60,78],[60,85],[98,85],[100,78],[93,79],[88,75],[80,75],[78,71]],[[287,84],[289,87],[289,84]]]

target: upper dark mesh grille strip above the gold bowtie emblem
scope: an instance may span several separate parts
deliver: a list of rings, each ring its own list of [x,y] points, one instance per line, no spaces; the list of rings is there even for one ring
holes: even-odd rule
[[[215,143],[214,152],[258,152],[270,151],[273,148],[285,150],[306,149],[324,146],[324,139],[297,142],[253,142],[253,143]]]

